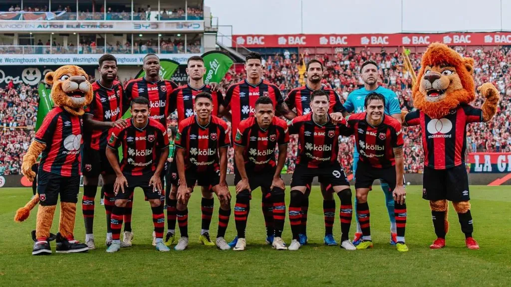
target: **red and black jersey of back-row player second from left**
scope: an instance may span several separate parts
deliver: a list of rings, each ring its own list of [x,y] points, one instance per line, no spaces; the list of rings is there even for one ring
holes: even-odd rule
[[[129,81],[124,88],[123,114],[128,110],[131,100],[136,97],[144,97],[149,100],[149,117],[156,119],[164,127],[167,127],[169,116],[170,94],[177,88],[176,83],[170,80],[148,82],[146,78],[138,78]]]

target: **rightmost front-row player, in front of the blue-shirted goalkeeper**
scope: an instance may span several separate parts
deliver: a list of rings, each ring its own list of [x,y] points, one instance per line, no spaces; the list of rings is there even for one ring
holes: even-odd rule
[[[373,247],[369,225],[367,195],[375,179],[383,179],[389,185],[394,198],[398,251],[408,251],[405,244],[406,192],[403,187],[403,134],[397,119],[388,116],[385,97],[371,92],[365,97],[365,112],[350,115],[347,119],[360,158],[357,165],[357,217],[362,228],[362,242],[357,249]]]

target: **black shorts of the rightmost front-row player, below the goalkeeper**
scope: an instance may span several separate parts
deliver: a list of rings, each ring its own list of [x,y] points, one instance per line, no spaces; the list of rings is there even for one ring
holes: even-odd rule
[[[370,189],[373,186],[373,181],[375,181],[375,179],[379,179],[382,183],[387,183],[390,191],[393,191],[394,188],[396,188],[396,166],[378,169],[359,160],[355,174],[357,175],[355,178],[355,189]]]

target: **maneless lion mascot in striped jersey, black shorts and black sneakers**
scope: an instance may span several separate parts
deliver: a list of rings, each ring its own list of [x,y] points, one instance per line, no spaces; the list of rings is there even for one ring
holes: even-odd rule
[[[84,106],[92,101],[92,86],[85,71],[65,65],[45,75],[52,85],[51,97],[55,107],[44,117],[27,154],[23,157],[21,172],[33,181],[31,170],[41,154],[38,170],[37,195],[25,207],[18,209],[15,221],[26,220],[30,210],[39,203],[35,241],[32,255],[51,254],[49,242],[56,240],[56,252],[87,251],[87,245],[74,240],[76,203],[80,188],[80,152]],[[60,196],[59,232],[50,234],[53,216]]]

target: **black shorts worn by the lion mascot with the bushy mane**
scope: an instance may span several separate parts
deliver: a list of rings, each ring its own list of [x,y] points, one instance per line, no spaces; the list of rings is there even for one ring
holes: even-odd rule
[[[465,165],[446,170],[434,170],[424,166],[422,198],[436,201],[468,201],[469,176]]]

